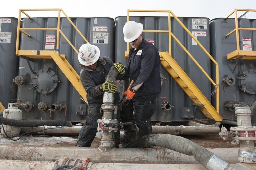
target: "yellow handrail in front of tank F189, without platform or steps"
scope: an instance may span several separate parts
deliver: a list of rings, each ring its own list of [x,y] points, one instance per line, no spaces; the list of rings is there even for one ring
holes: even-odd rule
[[[58,11],[58,21],[57,21],[57,28],[20,28],[20,17],[21,13],[26,15],[29,19],[32,20],[32,18],[25,12],[25,11]],[[20,32],[26,34],[27,36],[30,36],[29,33],[27,33],[24,30],[56,30],[57,31],[57,42],[56,42],[56,48],[59,49],[60,47],[60,34],[65,38],[65,40],[68,42],[68,44],[76,51],[78,54],[78,51],[76,48],[72,45],[72,43],[68,40],[68,38],[62,33],[60,30],[60,14],[61,12],[64,14],[64,16],[68,19],[70,24],[76,29],[76,31],[81,35],[81,37],[84,39],[86,43],[89,43],[87,39],[84,37],[84,35],[79,31],[79,29],[76,27],[76,25],[71,21],[71,19],[65,14],[65,12],[62,9],[20,9],[19,11],[19,19],[18,19],[18,26],[17,26],[17,38],[16,38],[16,55],[18,54],[19,50],[19,37],[20,37]]]

